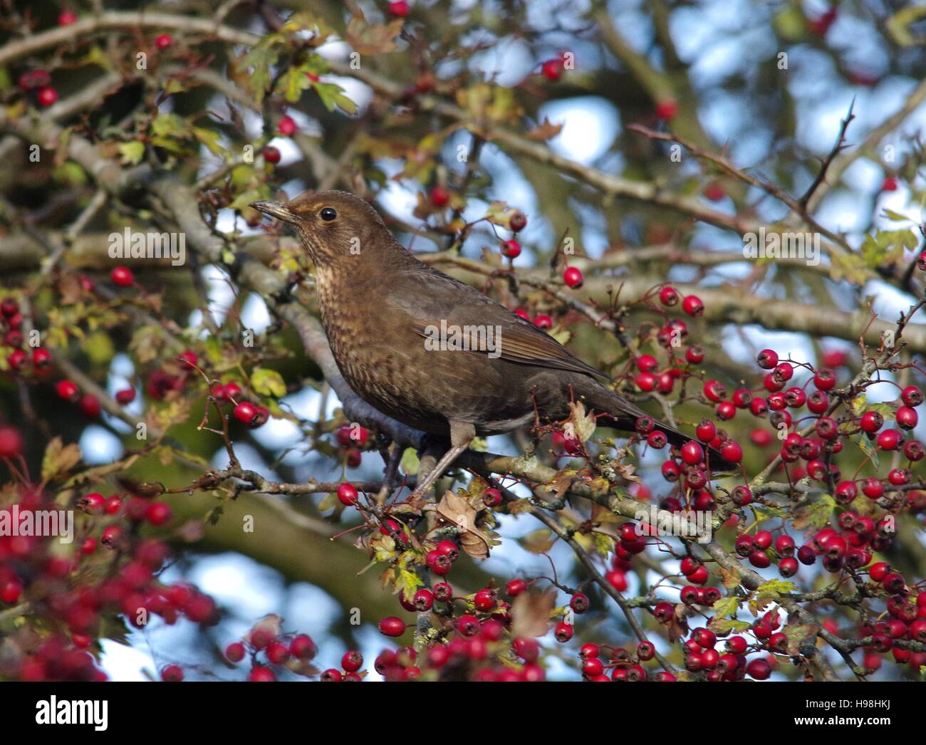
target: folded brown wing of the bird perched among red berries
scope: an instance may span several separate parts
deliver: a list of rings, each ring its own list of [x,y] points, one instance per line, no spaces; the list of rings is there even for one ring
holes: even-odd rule
[[[482,292],[433,267],[419,267],[399,274],[387,289],[390,304],[401,308],[419,336],[433,336],[435,329],[459,329],[469,338],[469,351],[486,354],[485,329],[494,329],[500,356],[523,365],[571,370],[585,375],[607,375],[569,353],[562,344],[530,321],[511,313]],[[482,336],[481,336],[482,335]],[[483,348],[480,348],[480,347]],[[497,347],[495,348],[497,350]]]

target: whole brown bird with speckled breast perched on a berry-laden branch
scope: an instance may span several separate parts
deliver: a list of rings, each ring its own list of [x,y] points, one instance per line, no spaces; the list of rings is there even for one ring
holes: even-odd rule
[[[536,414],[562,420],[572,400],[605,415],[598,422],[606,427],[634,431],[647,416],[549,334],[420,262],[353,194],[304,192],[251,206],[293,225],[306,246],[321,320],[351,388],[382,413],[449,439],[416,496],[476,435],[510,432]],[[657,428],[675,444],[692,439],[661,422]],[[717,451],[708,457],[729,466]]]

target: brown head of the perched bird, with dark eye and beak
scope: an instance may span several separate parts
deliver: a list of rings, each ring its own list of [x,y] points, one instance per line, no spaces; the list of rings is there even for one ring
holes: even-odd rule
[[[379,213],[347,192],[303,192],[289,202],[254,202],[251,206],[292,225],[317,266],[347,262],[397,245]]]

